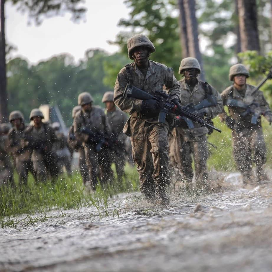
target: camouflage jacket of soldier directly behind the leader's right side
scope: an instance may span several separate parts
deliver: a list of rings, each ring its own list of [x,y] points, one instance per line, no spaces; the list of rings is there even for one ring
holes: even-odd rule
[[[194,86],[193,91],[190,91],[189,86],[187,85],[185,78],[179,81],[181,86],[181,105],[185,106],[187,104],[193,104],[196,106],[201,101],[206,99],[207,91],[204,90],[201,82],[198,79],[198,82]],[[217,98],[217,105],[216,106],[210,106],[205,109],[206,115],[214,118],[219,113],[222,112],[223,109],[223,102],[221,99],[220,94],[218,91],[216,91],[212,86],[212,96],[215,96]],[[178,127],[178,132],[184,135],[185,137],[194,138],[197,136],[205,135],[208,132],[208,129],[206,127],[201,127],[199,124],[194,123],[193,129],[183,129],[181,127]]]

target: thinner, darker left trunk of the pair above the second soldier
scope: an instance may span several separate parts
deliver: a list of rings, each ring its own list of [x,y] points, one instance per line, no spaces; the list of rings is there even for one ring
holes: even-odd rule
[[[178,9],[182,58],[187,58],[189,56],[189,46],[183,0],[178,0]]]

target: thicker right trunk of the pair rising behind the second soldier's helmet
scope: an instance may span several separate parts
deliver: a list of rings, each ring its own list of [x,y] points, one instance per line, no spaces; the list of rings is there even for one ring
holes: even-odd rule
[[[181,26],[183,27],[182,24],[185,24],[186,27],[186,32],[181,28],[181,37],[184,39],[182,45],[185,46],[185,50],[187,51],[186,53],[188,54],[187,57],[193,57],[199,61],[201,67],[201,74],[199,77],[201,80],[205,80],[202,55],[199,50],[196,3],[194,0],[182,0],[179,1],[178,4],[180,10]],[[188,47],[186,47],[187,44]],[[183,54],[183,57],[185,57],[185,54]]]

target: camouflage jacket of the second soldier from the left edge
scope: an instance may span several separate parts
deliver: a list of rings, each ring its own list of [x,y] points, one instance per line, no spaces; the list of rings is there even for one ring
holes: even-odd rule
[[[17,130],[15,127],[11,128],[8,133],[8,138],[12,155],[21,161],[30,160],[32,150],[27,148],[25,129]]]

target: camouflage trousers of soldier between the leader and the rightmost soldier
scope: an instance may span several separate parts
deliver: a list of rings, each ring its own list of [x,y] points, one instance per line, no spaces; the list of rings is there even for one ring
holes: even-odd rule
[[[186,141],[177,130],[173,130],[173,138],[171,140],[171,163],[176,164],[174,167],[178,168],[183,181],[185,182],[191,182],[194,177],[192,157],[194,159],[196,183],[205,184],[208,178],[207,136],[200,135]]]

